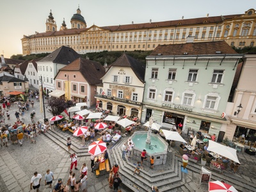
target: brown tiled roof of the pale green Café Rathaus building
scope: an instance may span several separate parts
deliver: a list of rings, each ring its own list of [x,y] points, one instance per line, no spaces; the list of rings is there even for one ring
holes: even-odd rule
[[[220,51],[221,54],[237,54],[230,45],[225,41],[218,42],[200,42],[200,43],[187,43],[187,44],[172,44],[172,45],[158,45],[150,56],[173,56],[173,55],[209,55],[216,54],[216,51]]]

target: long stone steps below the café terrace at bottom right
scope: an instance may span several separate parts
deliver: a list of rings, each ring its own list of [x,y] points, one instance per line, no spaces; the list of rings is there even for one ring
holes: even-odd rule
[[[181,159],[179,161],[181,162]],[[191,170],[191,172],[196,172],[200,174],[202,166],[200,166],[200,164],[189,163],[187,168],[188,170]],[[236,175],[233,175],[233,173],[218,173],[214,170],[211,170],[209,167],[205,168],[212,172],[212,180],[223,180],[223,178],[225,178],[225,182],[228,182],[228,184],[234,186],[234,188],[239,191],[255,191],[256,189],[256,184],[248,182],[248,180],[241,177],[237,177]]]

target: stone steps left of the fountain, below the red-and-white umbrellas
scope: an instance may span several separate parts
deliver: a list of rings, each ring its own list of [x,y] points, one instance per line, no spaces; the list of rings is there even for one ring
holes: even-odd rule
[[[55,131],[55,130],[49,130],[46,134],[50,140],[54,141],[57,145],[59,145],[61,148],[66,150],[68,153],[76,153],[77,156],[90,156],[88,154],[88,146],[86,147],[81,147],[81,145],[78,145],[77,143],[81,143],[79,139],[74,138],[67,134],[67,136],[63,136],[62,132]],[[72,140],[72,145],[71,145],[71,150],[68,151],[67,149],[67,138],[70,137]]]

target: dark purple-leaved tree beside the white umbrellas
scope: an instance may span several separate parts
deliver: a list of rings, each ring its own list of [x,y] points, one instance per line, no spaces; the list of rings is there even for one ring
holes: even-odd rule
[[[56,97],[50,97],[47,100],[47,109],[53,116],[60,115],[65,109],[74,106],[72,100],[64,100]]]

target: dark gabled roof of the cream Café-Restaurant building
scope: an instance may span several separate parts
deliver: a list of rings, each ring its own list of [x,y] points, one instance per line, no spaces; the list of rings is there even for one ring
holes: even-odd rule
[[[132,58],[127,54],[122,54],[120,58],[118,58],[114,63],[112,63],[109,67],[118,66],[118,67],[131,67],[134,74],[140,79],[141,82],[144,82],[146,65],[141,63],[140,61]]]

